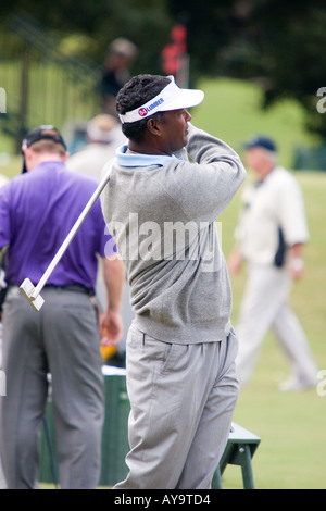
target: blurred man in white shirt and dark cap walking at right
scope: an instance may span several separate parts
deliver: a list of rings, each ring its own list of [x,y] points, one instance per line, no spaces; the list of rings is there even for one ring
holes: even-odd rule
[[[244,386],[259,348],[272,328],[292,369],[281,390],[301,390],[316,384],[317,369],[298,317],[288,304],[291,282],[303,273],[303,247],[309,239],[304,201],[294,177],[277,164],[276,147],[266,137],[244,146],[246,162],[259,180],[243,189],[243,211],[236,228],[237,247],[229,271],[248,263],[248,281],[237,333],[237,370]]]

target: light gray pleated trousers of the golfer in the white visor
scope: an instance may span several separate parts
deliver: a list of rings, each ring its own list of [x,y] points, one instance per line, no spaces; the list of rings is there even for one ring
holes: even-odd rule
[[[129,473],[114,488],[211,487],[238,397],[237,348],[233,331],[222,341],[178,345],[130,327]]]

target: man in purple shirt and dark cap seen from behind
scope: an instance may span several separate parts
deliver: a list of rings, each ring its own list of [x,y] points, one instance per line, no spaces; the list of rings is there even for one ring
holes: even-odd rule
[[[23,174],[0,190],[0,250],[8,284],[2,314],[7,395],[0,398],[4,475],[9,488],[35,487],[51,374],[61,487],[95,488],[104,412],[99,339],[101,334],[114,344],[122,335],[123,263],[105,258],[114,242],[98,201],[43,288],[42,309],[33,310],[18,286],[25,277],[39,282],[98,183],[65,167],[66,146],[53,126],[29,132],[23,153]],[[92,298],[98,256],[108,289],[101,317]]]

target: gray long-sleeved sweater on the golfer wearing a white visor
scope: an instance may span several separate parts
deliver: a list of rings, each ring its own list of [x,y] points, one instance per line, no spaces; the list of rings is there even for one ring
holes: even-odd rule
[[[136,326],[167,342],[225,338],[231,289],[215,220],[246,177],[239,157],[191,125],[178,157],[125,151],[101,202],[126,264]]]

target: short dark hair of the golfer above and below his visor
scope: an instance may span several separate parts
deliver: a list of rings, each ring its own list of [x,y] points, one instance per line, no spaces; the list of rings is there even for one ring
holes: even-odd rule
[[[116,97],[116,111],[121,115],[141,107],[149,100],[158,96],[171,83],[170,78],[160,75],[138,75],[134,76],[118,91]],[[164,112],[156,112],[148,119],[164,120]],[[122,130],[125,137],[137,142],[141,141],[146,130],[148,119],[134,123],[124,123]]]

